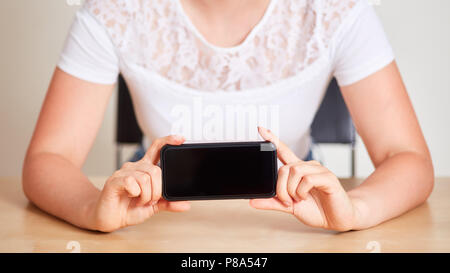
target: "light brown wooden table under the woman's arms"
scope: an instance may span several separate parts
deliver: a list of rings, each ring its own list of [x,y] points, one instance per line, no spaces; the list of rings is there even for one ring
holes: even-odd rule
[[[92,179],[101,187],[102,178]],[[346,188],[359,180],[342,179]],[[450,252],[450,178],[422,206],[377,227],[336,233],[246,200],[195,201],[103,234],[76,228],[25,198],[18,178],[0,178],[0,252]]]

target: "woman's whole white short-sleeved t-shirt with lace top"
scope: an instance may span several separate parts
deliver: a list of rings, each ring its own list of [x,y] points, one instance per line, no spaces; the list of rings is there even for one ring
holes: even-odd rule
[[[257,140],[257,125],[299,157],[334,76],[355,83],[394,59],[367,0],[272,0],[245,40],[209,43],[179,0],[87,0],[58,67],[112,84],[120,72],[148,141]]]

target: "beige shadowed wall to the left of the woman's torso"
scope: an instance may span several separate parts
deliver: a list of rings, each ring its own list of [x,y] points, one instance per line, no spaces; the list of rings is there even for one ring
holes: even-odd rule
[[[78,0],[0,1],[0,176],[20,176],[22,161]],[[115,97],[85,164],[90,175],[115,166]]]

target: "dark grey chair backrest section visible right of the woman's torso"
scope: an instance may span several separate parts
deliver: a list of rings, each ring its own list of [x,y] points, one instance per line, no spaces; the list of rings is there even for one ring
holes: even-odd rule
[[[311,124],[311,136],[315,143],[355,143],[355,127],[334,78]]]

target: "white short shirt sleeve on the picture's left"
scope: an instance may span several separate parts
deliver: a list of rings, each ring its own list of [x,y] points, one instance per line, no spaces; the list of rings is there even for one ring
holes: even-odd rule
[[[119,58],[107,30],[85,7],[76,13],[58,67],[79,79],[113,84]]]

